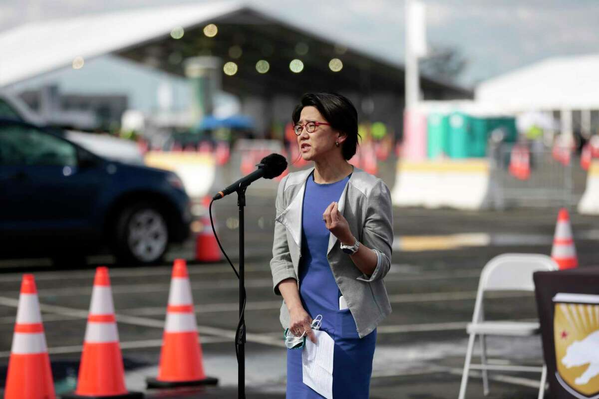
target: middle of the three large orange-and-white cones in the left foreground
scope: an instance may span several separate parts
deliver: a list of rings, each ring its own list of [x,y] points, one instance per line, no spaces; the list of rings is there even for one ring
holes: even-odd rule
[[[79,379],[74,394],[63,398],[143,398],[141,392],[125,388],[125,370],[120,353],[119,332],[114,318],[114,305],[108,268],[96,269],[92,303],[83,340]]]

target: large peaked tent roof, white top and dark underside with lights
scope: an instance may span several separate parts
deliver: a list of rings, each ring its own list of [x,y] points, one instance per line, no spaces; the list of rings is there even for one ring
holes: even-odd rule
[[[213,38],[202,31],[207,23],[218,27]],[[184,29],[183,37],[171,38],[171,31],[177,27]],[[302,56],[297,54],[300,42],[307,44],[308,49]],[[232,58],[234,45],[241,48],[240,57]],[[184,59],[207,55],[238,64],[234,76],[220,71],[223,89],[237,95],[297,96],[324,89],[353,89],[365,95],[379,90],[403,93],[402,65],[344,45],[241,2],[142,8],[29,23],[1,32],[0,54],[6,62],[0,63],[0,87],[70,66],[75,57],[89,60],[117,54],[183,76]],[[343,62],[340,72],[329,69],[333,57]],[[289,70],[289,62],[294,58],[304,63],[301,73]],[[260,59],[270,63],[265,74],[256,71]],[[429,78],[422,78],[421,86],[425,98],[471,97],[468,90]]]

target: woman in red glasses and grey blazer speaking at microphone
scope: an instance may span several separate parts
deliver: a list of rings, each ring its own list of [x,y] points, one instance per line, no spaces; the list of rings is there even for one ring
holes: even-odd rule
[[[314,163],[279,184],[274,293],[287,351],[287,398],[322,398],[302,382],[302,339],[313,319],[334,340],[332,394],[368,398],[376,327],[391,313],[383,278],[391,265],[389,188],[347,160],[358,145],[358,112],[337,93],[302,96],[293,115],[299,152]],[[322,320],[321,320],[322,316]],[[289,345],[288,345],[289,347]]]

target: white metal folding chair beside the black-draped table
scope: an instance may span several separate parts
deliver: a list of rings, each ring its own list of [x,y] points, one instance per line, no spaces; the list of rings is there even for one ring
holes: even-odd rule
[[[470,334],[468,349],[462,373],[462,383],[459,387],[458,399],[464,399],[468,374],[470,370],[481,370],[483,376],[483,393],[489,393],[487,370],[534,371],[541,373],[539,399],[543,398],[547,368],[531,366],[503,366],[487,364],[485,336],[527,337],[540,333],[539,322],[519,321],[485,321],[483,312],[483,297],[486,291],[534,291],[533,273],[537,271],[557,270],[558,266],[547,255],[540,254],[503,254],[492,258],[480,273],[479,289],[474,304],[472,322],[466,327]],[[480,364],[470,364],[474,341],[480,336]]]

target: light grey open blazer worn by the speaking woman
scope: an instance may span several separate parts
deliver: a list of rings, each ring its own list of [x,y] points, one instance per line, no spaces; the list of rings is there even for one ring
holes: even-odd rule
[[[298,281],[301,258],[302,209],[305,182],[314,168],[300,170],[285,176],[279,184],[274,226],[273,273],[274,293],[281,295],[277,285],[288,278]],[[391,313],[391,304],[383,277],[391,266],[393,221],[391,194],[385,183],[376,176],[354,167],[338,209],[346,218],[354,237],[376,251],[377,266],[371,276],[364,275],[353,264],[349,255],[340,249],[334,234],[329,235],[327,258],[335,281],[347,302],[360,337],[367,336]],[[324,209],[314,212],[323,213]],[[314,315],[311,315],[314,317]],[[283,301],[280,321],[289,327],[289,311]]]

